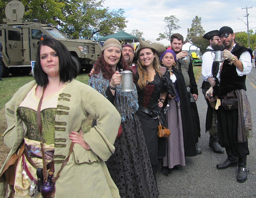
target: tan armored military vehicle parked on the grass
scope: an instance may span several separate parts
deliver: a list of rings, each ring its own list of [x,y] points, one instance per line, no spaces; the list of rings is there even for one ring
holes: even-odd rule
[[[0,24],[0,41],[3,44],[3,77],[28,75],[31,61],[36,59],[36,50],[41,38],[54,37],[60,40],[79,61],[79,69],[90,71],[101,52],[101,45],[92,40],[68,39],[52,24],[41,24],[37,19],[23,21],[24,6],[13,0],[5,7],[5,24]]]

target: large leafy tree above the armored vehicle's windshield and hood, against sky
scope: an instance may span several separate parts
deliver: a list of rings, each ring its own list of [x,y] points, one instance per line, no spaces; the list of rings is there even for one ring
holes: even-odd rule
[[[127,22],[124,10],[109,11],[102,3],[102,0],[65,0],[67,16],[62,30],[73,39],[94,40],[123,30]]]

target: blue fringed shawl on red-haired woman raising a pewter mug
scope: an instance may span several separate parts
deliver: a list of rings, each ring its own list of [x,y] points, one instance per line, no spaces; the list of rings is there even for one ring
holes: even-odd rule
[[[109,80],[102,76],[101,71],[99,74],[95,74],[90,77],[88,80],[88,85],[106,97],[105,91],[109,86]],[[124,122],[126,118],[133,119],[134,114],[138,111],[138,94],[135,85],[134,88],[135,90],[133,92],[122,92],[122,83],[117,85],[117,95],[115,97],[114,105],[120,113],[122,122]]]

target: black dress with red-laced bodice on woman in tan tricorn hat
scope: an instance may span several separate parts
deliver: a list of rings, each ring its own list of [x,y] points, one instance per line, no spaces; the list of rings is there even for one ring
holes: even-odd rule
[[[173,94],[171,89],[170,77],[167,76],[166,68],[161,67],[162,77],[158,73],[154,76],[154,80],[148,82],[145,89],[138,90],[138,102],[139,106],[147,108],[153,111],[159,112],[161,108],[158,106],[158,100],[160,98],[161,92],[167,91]],[[137,73],[138,79],[138,73]],[[159,163],[159,158],[163,158],[166,153],[166,138],[159,138],[157,136],[157,126],[159,125],[159,119],[152,118],[149,114],[144,113],[140,110],[138,111],[139,119],[141,121],[141,126],[143,129],[144,137],[147,144],[147,150],[149,151],[149,157],[151,161],[152,168]],[[163,115],[161,115],[163,118]]]

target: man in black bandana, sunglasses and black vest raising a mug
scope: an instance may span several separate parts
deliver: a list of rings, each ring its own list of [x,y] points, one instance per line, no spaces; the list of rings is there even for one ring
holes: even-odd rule
[[[243,183],[247,180],[248,172],[248,138],[252,136],[251,108],[245,93],[246,75],[251,71],[252,50],[236,43],[235,34],[228,26],[220,28],[219,37],[225,46],[220,84],[207,91],[212,96],[214,90],[221,100],[217,111],[219,143],[225,147],[227,159],[217,164],[217,169],[238,164],[237,181]]]

